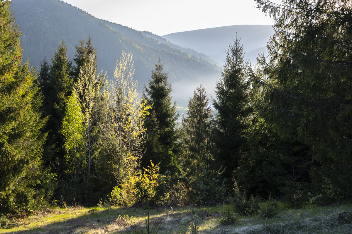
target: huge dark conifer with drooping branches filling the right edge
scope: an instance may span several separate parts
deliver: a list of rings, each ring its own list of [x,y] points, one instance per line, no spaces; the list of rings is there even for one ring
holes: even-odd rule
[[[275,22],[270,59],[260,58],[252,76],[256,110],[278,134],[310,147],[320,190],[351,197],[351,1],[256,1]]]

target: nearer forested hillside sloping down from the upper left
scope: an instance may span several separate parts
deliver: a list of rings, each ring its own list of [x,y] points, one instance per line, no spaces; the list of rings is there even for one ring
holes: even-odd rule
[[[149,32],[95,18],[63,1],[12,0],[11,8],[23,34],[24,58],[30,57],[32,66],[39,66],[44,56],[50,61],[60,40],[65,41],[69,58],[74,58],[75,45],[90,35],[97,48],[98,69],[107,71],[109,78],[122,49],[133,54],[134,79],[139,81],[139,91],[147,84],[154,63],[160,58],[169,72],[174,100],[181,106],[187,106],[200,82],[215,83],[219,79],[220,68],[209,56],[158,41],[153,39],[157,35]]]

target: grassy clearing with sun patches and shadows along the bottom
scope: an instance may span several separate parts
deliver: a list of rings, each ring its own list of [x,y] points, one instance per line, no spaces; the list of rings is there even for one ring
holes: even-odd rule
[[[221,207],[163,207],[150,209],[151,225],[161,223],[159,234],[339,234],[352,233],[352,204],[304,209],[283,209],[277,216],[239,217],[233,225],[222,225]],[[345,213],[342,213],[347,211]],[[146,208],[67,207],[37,212],[14,219],[0,233],[133,233],[130,226],[145,229]]]

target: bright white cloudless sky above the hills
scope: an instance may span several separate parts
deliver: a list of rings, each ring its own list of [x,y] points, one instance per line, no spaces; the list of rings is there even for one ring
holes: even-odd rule
[[[97,18],[158,35],[229,25],[272,25],[253,0],[64,0]]]

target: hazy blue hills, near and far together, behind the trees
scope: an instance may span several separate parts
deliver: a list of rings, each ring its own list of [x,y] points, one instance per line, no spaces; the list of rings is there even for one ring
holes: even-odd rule
[[[122,49],[133,54],[134,79],[139,82],[140,93],[160,58],[169,72],[173,100],[183,107],[187,107],[188,99],[200,83],[214,95],[226,51],[236,32],[242,38],[244,51],[248,52],[245,58],[252,63],[259,53],[266,51],[265,46],[273,34],[271,26],[241,25],[162,37],[97,19],[63,1],[12,0],[11,8],[23,34],[23,55],[30,58],[32,66],[39,67],[44,56],[50,60],[60,40],[67,45],[68,57],[73,58],[79,40],[91,36],[97,48],[98,71],[107,72],[109,79],[113,77]]]

